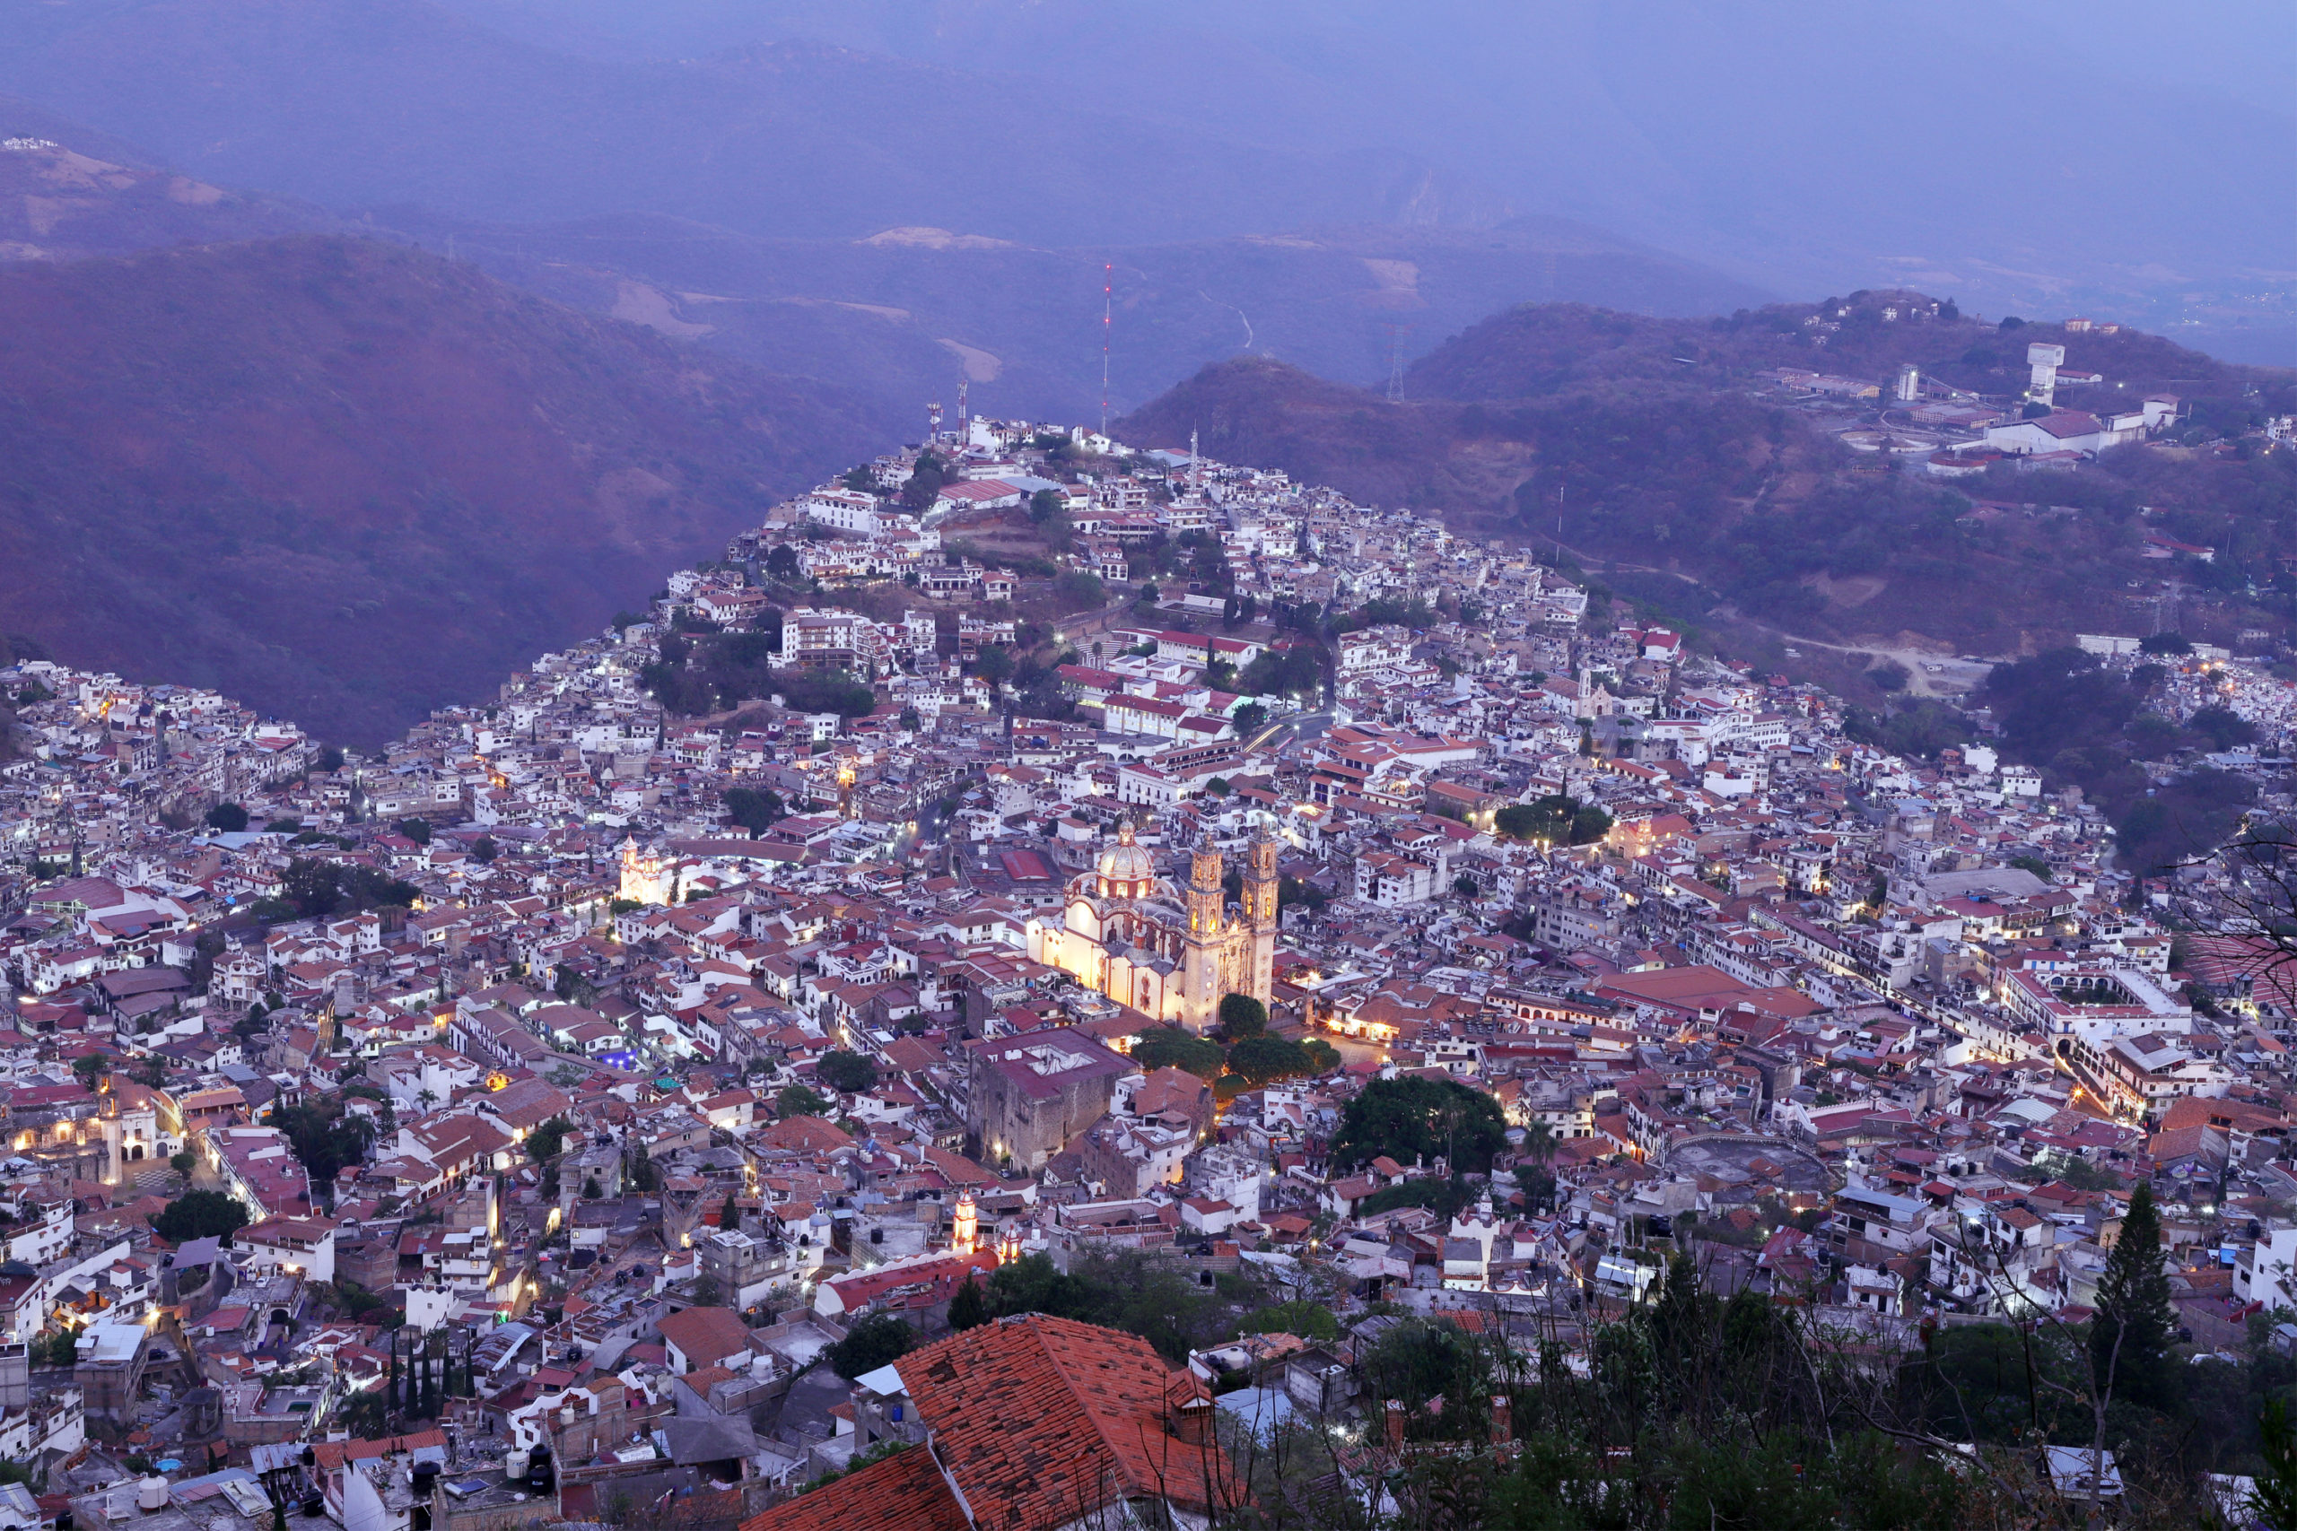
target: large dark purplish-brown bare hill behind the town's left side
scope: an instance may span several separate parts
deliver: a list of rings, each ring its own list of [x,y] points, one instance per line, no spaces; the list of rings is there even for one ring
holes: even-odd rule
[[[0,266],[0,631],[377,744],[889,429],[404,246]]]

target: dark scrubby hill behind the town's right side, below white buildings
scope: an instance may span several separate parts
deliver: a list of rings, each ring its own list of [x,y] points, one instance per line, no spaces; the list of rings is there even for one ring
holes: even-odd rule
[[[2106,379],[2060,390],[2060,404],[2175,393],[2184,418],[2079,471],[1943,482],[1847,450],[1844,409],[1764,376],[1879,383],[1916,363],[1950,388],[2014,395],[2031,340]],[[1794,668],[1794,638],[1991,656],[2161,622],[2228,645],[2281,631],[2297,599],[2283,567],[2297,555],[2297,459],[2244,432],[2290,409],[2292,374],[2155,335],[1978,324],[1920,294],[1854,294],[1697,321],[1518,308],[1420,360],[1401,404],[1254,358],[1206,367],[1121,432],[1171,445],[1199,429],[1227,461],[1521,537]],[[2141,558],[2150,539],[2210,555]]]

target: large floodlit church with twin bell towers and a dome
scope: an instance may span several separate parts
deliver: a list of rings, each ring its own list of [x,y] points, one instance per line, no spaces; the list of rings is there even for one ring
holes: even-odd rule
[[[1245,852],[1240,907],[1227,904],[1222,872],[1220,852],[1199,845],[1188,886],[1176,888],[1126,819],[1100,865],[1068,879],[1059,923],[1029,920],[1029,955],[1121,1005],[1204,1033],[1222,996],[1266,1005],[1275,992],[1277,838],[1266,822]]]

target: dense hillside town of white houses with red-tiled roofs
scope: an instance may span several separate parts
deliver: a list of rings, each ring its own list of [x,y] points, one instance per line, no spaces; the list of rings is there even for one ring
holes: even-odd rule
[[[1208,1524],[1273,1419],[1376,1506],[1401,1322],[1585,1366],[1688,1258],[1909,1354],[2141,1187],[2297,1347],[2233,872],[1539,553],[935,418],[381,751],[0,670],[0,1526]],[[2290,808],[2297,684],[2083,647]],[[1227,1306],[1024,1297],[1112,1269]]]

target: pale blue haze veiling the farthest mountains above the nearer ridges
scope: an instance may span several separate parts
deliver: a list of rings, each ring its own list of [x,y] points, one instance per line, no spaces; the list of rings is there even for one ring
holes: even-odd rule
[[[216,184],[1050,248],[1576,218],[2297,358],[2292,21],[1273,0],[9,0],[0,90]],[[1539,296],[1532,292],[1516,294]],[[1560,294],[1585,296],[1585,294]],[[1433,344],[1420,335],[1413,349]],[[1146,397],[1146,395],[1137,395]]]

